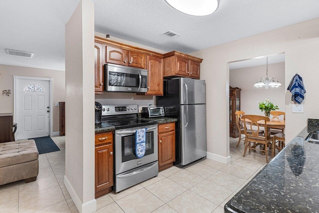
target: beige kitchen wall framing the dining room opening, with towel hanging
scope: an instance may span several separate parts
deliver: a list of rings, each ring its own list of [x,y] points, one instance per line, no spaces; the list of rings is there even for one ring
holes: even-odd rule
[[[229,65],[228,62],[285,52],[285,83],[288,87],[296,72],[307,90],[305,113],[292,113],[291,93],[285,92],[286,140],[305,126],[307,118],[319,118],[319,18],[254,35],[192,53],[203,58],[201,79],[207,84],[207,151],[211,158],[229,158]],[[228,157],[228,158],[227,158]],[[227,158],[227,159],[226,159]]]

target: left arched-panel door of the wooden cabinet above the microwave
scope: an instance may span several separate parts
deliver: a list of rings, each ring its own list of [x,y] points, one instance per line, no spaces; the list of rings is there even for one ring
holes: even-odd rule
[[[106,46],[105,56],[106,63],[114,63],[125,66],[128,66],[129,64],[128,50],[119,47]]]

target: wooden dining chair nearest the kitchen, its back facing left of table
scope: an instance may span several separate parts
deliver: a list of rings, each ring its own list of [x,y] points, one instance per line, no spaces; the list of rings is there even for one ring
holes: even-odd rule
[[[267,121],[270,121],[269,118],[261,115],[243,115],[241,117],[243,119],[244,123],[244,132],[245,132],[245,151],[244,151],[244,157],[246,156],[247,153],[247,148],[249,149],[249,152],[251,149],[253,150],[260,150],[262,152],[265,152],[266,155],[266,163],[268,163],[268,148],[271,148],[272,146],[272,141],[273,137],[272,136],[267,136],[267,134],[261,136],[259,134],[260,131],[260,124],[258,122],[262,122],[265,129],[267,129]],[[250,120],[250,132],[247,131],[247,123],[245,120],[248,119]],[[254,127],[254,128],[253,128]],[[254,145],[251,146],[251,143]],[[257,146],[261,145],[263,147],[262,149],[257,149]],[[272,151],[272,150],[269,150]]]

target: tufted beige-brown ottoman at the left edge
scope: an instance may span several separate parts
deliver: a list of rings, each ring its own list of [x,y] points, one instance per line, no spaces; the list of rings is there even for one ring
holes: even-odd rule
[[[0,143],[0,185],[35,181],[39,173],[38,157],[34,140]]]

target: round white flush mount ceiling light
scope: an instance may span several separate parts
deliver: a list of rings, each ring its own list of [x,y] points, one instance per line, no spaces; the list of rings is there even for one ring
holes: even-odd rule
[[[216,11],[219,0],[165,0],[170,6],[180,12],[203,16]]]

